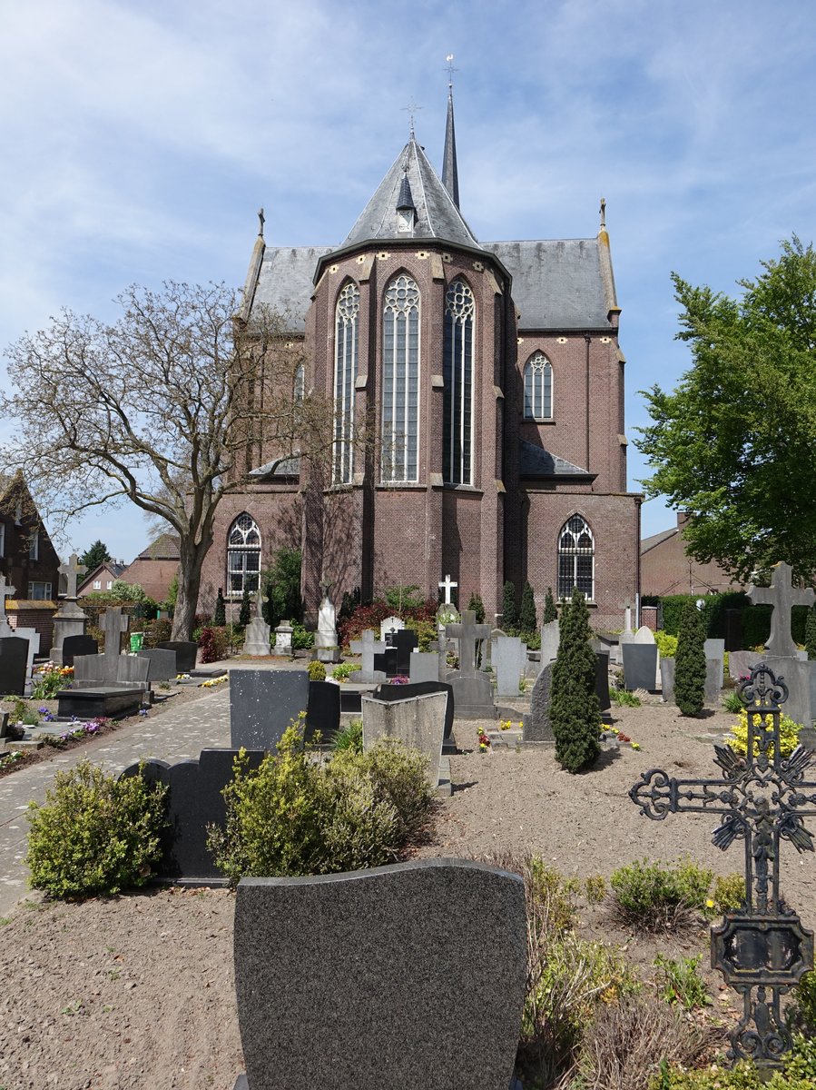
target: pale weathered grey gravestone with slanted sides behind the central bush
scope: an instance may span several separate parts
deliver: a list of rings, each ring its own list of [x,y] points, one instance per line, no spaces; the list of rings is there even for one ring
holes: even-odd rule
[[[443,692],[388,701],[362,697],[363,752],[369,750],[380,738],[398,738],[410,749],[419,750],[427,759],[428,783],[431,789],[436,789],[442,758],[447,704],[448,697]]]

